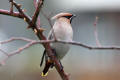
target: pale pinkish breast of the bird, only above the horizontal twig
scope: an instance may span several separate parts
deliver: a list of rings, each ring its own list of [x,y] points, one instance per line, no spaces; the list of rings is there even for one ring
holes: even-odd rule
[[[53,26],[53,29],[57,39],[67,41],[72,40],[73,30],[70,23],[58,21]]]

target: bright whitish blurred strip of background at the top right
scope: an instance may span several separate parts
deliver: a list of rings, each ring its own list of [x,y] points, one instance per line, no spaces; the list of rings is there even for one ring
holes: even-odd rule
[[[52,0],[57,6],[80,11],[116,11],[120,8],[120,0]]]

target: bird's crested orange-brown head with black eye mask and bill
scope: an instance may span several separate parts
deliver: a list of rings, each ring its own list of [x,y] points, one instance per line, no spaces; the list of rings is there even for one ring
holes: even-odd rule
[[[71,13],[59,13],[55,16],[52,17],[52,20],[54,19],[60,19],[60,18],[65,18],[68,21],[70,21],[70,23],[72,22],[72,19],[75,17],[75,15],[71,14]]]

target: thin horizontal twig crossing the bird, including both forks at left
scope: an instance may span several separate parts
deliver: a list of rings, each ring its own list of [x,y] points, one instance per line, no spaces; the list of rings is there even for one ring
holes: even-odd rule
[[[63,40],[40,40],[40,41],[37,41],[37,40],[32,40],[32,39],[23,38],[23,37],[13,37],[11,39],[8,39],[8,40],[5,40],[5,41],[1,41],[0,44],[6,44],[6,43],[12,42],[14,40],[23,40],[23,41],[26,41],[28,43],[25,46],[23,46],[21,48],[18,48],[17,50],[15,50],[13,52],[10,52],[10,53],[7,53],[4,50],[0,49],[0,51],[7,56],[7,58],[2,60],[0,63],[2,63],[2,64],[4,63],[5,64],[5,61],[8,58],[10,58],[10,57],[12,57],[12,56],[14,56],[16,54],[19,54],[20,52],[22,52],[23,50],[31,47],[32,45],[43,44],[43,43],[71,44],[71,45],[81,46],[83,48],[90,49],[90,50],[120,50],[120,47],[116,47],[116,46],[111,46],[111,47],[105,47],[105,46],[103,46],[103,47],[92,47],[92,46],[88,46],[88,45],[82,44],[80,42],[75,42],[75,41],[71,41],[71,42],[63,41]]]

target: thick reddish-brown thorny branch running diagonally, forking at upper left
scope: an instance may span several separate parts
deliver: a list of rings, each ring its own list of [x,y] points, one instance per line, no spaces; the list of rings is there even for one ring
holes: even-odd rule
[[[11,1],[11,0],[10,0]],[[42,3],[44,0],[41,0]],[[39,2],[39,1],[38,1]],[[41,2],[40,2],[41,3]],[[40,4],[38,3],[38,4]],[[34,12],[34,16],[33,18],[31,19],[28,15],[26,15],[24,13],[24,11],[21,9],[21,5],[17,4],[15,1],[13,1],[13,5],[17,8],[18,12],[19,12],[19,15],[22,15],[22,18],[24,19],[24,21],[26,21],[28,23],[28,27],[32,28],[32,30],[35,32],[35,34],[37,35],[37,37],[40,39],[40,40],[46,40],[46,37],[42,34],[42,31],[40,29],[38,29],[37,25],[36,25],[36,21],[37,21],[37,17],[38,17],[38,14],[40,12],[40,9],[41,9],[41,4],[39,5],[39,8],[38,10],[36,9],[35,12]],[[37,6],[38,7],[38,6]],[[14,13],[14,12],[13,12]],[[12,16],[12,14],[8,14],[8,13],[3,13],[2,14],[4,15],[9,15],[9,16]],[[57,69],[57,71],[59,72],[61,78],[63,80],[68,80],[68,77],[66,76],[66,74],[64,73],[64,70],[61,70],[61,65],[59,64],[59,60],[53,56],[53,51],[50,47],[50,44],[49,43],[42,43],[43,46],[45,47],[46,51],[47,51],[47,54],[48,56],[50,56],[50,59],[55,63],[55,68]],[[29,44],[30,45],[30,44]],[[24,49],[24,48],[22,48]],[[21,49],[19,50],[21,51]],[[18,51],[15,51],[14,53],[17,53]],[[4,60],[6,61],[7,58]],[[3,61],[3,62],[4,62]]]

